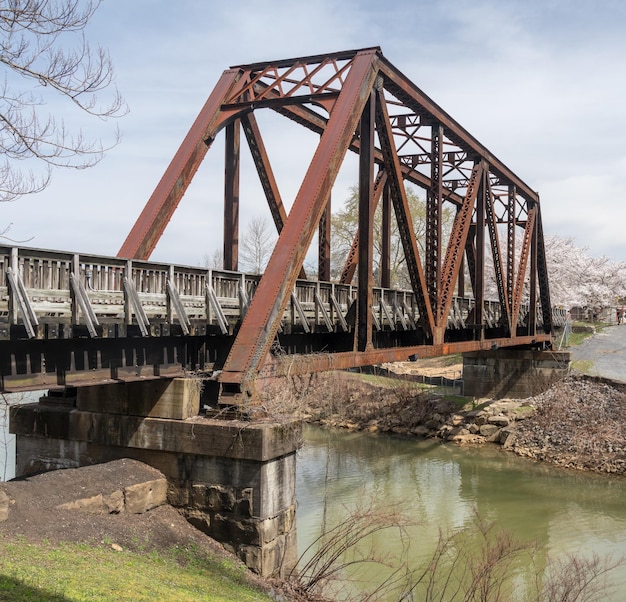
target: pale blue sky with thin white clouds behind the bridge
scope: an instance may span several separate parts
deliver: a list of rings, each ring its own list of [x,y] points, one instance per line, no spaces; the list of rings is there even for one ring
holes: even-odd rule
[[[626,261],[623,0],[104,0],[86,35],[109,51],[129,111],[85,133],[106,144],[118,126],[122,139],[95,167],[57,170],[43,192],[0,206],[24,246],[115,255],[228,67],[379,46],[539,192],[546,234]],[[289,207],[317,140],[257,117]],[[221,248],[223,155],[218,136],[151,259],[202,265]],[[242,162],[244,231],[269,211]],[[334,207],[355,178],[342,171]]]

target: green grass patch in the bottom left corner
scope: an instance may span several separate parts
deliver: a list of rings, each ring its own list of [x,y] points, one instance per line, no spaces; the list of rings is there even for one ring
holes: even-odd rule
[[[85,544],[24,541],[0,549],[0,600],[15,602],[265,601],[245,570],[193,548],[117,552]]]

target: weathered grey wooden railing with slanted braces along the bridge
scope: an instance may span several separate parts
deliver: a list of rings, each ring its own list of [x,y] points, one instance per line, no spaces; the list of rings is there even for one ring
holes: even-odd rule
[[[114,337],[133,334],[232,334],[260,276],[22,247],[0,247],[0,338]],[[356,287],[299,280],[281,330],[346,331]],[[448,328],[463,329],[471,298],[455,298]],[[520,312],[520,323],[528,307]],[[377,330],[415,329],[411,291],[375,288]],[[561,315],[562,314],[562,315]],[[497,302],[485,303],[488,326],[501,318]],[[537,313],[538,319],[541,312]],[[554,325],[564,310],[553,311]]]

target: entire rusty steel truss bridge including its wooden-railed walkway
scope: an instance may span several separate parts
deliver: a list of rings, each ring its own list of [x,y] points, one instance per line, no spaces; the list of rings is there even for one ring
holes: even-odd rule
[[[319,136],[288,213],[260,110]],[[221,130],[224,269],[149,262]],[[279,233],[261,276],[238,273],[241,132]],[[358,155],[358,233],[330,282],[331,189],[348,151]],[[423,252],[405,183],[425,194]],[[408,291],[390,287],[392,225]],[[319,280],[308,280],[303,262],[316,235]],[[549,346],[556,324],[538,194],[379,48],[224,71],[117,257],[0,252],[4,391],[209,370],[222,398],[242,403],[260,381],[286,373]],[[487,278],[496,301],[485,297]]]

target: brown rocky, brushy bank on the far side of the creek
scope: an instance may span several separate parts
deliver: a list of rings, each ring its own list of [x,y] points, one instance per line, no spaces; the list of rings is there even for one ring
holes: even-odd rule
[[[455,371],[447,367],[448,379]],[[565,468],[626,472],[624,383],[572,374],[533,398],[472,400],[452,387],[426,387],[408,379],[406,370],[400,373],[296,377],[289,387],[272,391],[266,407],[287,411],[290,400],[289,413],[325,427],[499,445]]]

